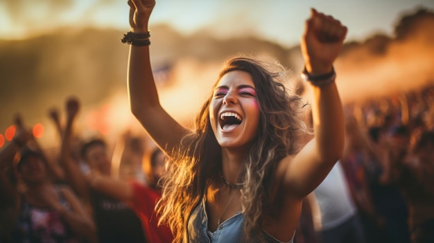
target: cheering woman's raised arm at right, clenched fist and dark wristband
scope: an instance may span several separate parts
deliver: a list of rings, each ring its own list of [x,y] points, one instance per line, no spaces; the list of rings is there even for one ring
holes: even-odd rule
[[[329,15],[311,10],[301,48],[304,75],[311,84],[311,109],[315,136],[292,160],[284,183],[296,197],[305,197],[327,176],[340,159],[345,141],[345,118],[334,82],[333,62],[347,34],[347,27]]]

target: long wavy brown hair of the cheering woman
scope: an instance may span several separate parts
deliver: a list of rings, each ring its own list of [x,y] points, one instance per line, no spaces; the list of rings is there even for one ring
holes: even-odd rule
[[[252,75],[261,111],[259,132],[245,161],[241,190],[246,240],[261,239],[261,229],[272,216],[272,187],[277,163],[300,150],[300,136],[308,132],[303,120],[306,104],[286,88],[287,71],[276,61],[260,62],[233,57],[225,62],[218,80],[230,71]],[[217,85],[214,84],[214,87]],[[212,179],[221,172],[222,148],[209,120],[212,93],[196,117],[195,129],[182,139],[162,177],[162,199],[157,204],[160,222],[168,224],[174,242],[186,242],[187,222]]]

